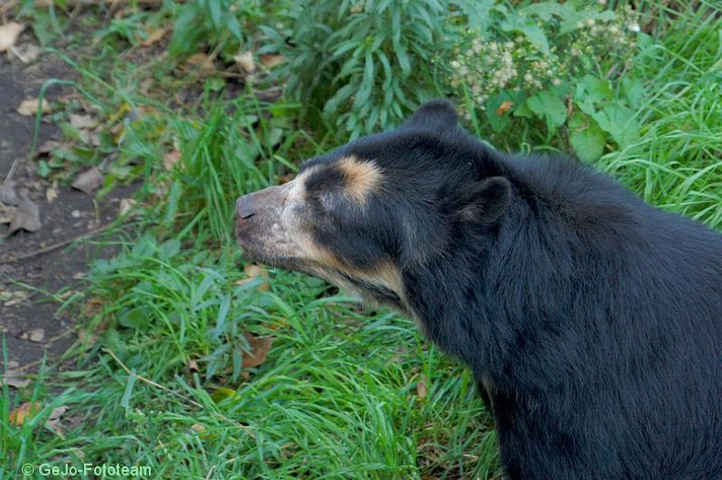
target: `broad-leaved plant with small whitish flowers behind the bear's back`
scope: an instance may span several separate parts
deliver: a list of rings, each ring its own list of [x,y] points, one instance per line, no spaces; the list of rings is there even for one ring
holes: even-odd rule
[[[460,5],[466,31],[444,63],[444,78],[450,91],[465,92],[467,112],[484,112],[495,133],[515,119],[537,119],[546,143],[566,126],[569,144],[586,161],[608,143],[625,148],[636,140],[634,111],[644,89],[625,75],[640,31],[629,6],[499,4],[480,17],[472,5]]]

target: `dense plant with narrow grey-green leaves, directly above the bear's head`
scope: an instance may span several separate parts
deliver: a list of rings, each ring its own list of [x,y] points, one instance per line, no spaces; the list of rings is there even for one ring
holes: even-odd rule
[[[398,124],[434,95],[431,59],[451,48],[449,4],[360,0],[291,5],[288,27],[264,27],[289,59],[286,91],[352,138]]]

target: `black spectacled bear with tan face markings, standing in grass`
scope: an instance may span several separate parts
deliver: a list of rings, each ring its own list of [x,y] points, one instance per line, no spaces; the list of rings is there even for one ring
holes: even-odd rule
[[[240,197],[248,258],[414,318],[482,386],[511,479],[722,478],[722,236],[447,101]]]

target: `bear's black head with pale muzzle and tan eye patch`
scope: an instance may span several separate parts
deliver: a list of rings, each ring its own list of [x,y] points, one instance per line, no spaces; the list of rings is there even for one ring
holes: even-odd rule
[[[396,131],[317,156],[291,182],[240,197],[236,231],[252,260],[409,313],[405,272],[452,257],[466,232],[492,228],[511,191],[494,152],[462,131],[451,103],[436,100]]]

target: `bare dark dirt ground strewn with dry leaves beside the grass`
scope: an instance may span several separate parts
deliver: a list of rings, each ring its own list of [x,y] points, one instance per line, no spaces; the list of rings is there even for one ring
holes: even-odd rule
[[[120,198],[132,190],[116,188],[95,205],[93,195],[61,185],[58,197],[48,202],[48,183],[35,174],[36,164],[28,158],[35,117],[20,115],[16,108],[28,97],[37,98],[40,87],[51,78],[73,80],[73,71],[51,54],[42,54],[28,65],[0,55],[0,184],[16,162],[15,189],[29,191],[42,222],[36,232],[19,230],[10,235],[8,225],[0,225],[0,339],[6,345],[6,367],[21,372],[37,370],[46,354],[48,366],[53,366],[77,339],[78,308],[57,315],[58,302],[34,288],[61,295],[81,288],[90,259],[112,252],[69,240],[102,230],[117,217]],[[52,86],[48,98],[71,91],[70,86]],[[60,136],[58,127],[45,121],[39,134],[38,144]],[[0,355],[0,372],[4,367]]]

